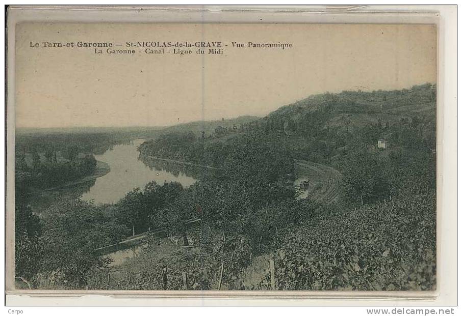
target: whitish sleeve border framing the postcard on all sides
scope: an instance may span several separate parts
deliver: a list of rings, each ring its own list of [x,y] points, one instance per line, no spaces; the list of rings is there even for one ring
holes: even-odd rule
[[[16,291],[14,275],[14,43],[15,24],[41,22],[419,23],[439,25],[438,49],[438,290],[435,292],[252,291]],[[456,303],[456,13],[444,6],[323,7],[11,7],[8,12],[6,175],[7,305],[451,305]],[[110,295],[110,296],[109,296]],[[136,299],[134,298],[136,297]]]

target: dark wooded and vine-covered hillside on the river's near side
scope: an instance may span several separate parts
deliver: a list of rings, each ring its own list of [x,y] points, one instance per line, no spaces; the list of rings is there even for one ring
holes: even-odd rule
[[[187,189],[149,183],[114,205],[63,200],[41,219],[17,209],[24,220],[17,223],[16,273],[35,286],[39,276],[59,275],[64,288],[101,288],[115,268],[96,248],[165,229],[188,247],[152,257],[160,241],[149,234],[109,288],[162,289],[168,273],[169,289],[182,289],[187,272],[189,289],[216,289],[223,264],[223,288],[270,289],[264,271],[247,282],[247,269],[268,255],[279,290],[435,289],[435,129],[435,87],[426,84],[312,96],[209,137],[163,133],[140,146],[143,161],[160,157],[215,171],[201,172]],[[378,139],[388,148],[378,149]],[[295,159],[339,169],[341,200],[297,199]],[[75,255],[54,247],[58,239]],[[34,257],[34,249],[47,257]]]

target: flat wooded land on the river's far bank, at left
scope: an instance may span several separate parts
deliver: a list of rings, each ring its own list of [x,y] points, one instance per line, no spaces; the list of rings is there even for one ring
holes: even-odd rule
[[[76,183],[96,170],[94,154],[130,141],[124,133],[20,131],[15,139],[15,191],[27,202],[31,192]],[[27,203],[26,203],[27,204]]]

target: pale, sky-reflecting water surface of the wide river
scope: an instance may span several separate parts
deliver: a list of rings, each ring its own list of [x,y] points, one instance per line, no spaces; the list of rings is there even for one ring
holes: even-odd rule
[[[83,200],[95,203],[117,203],[133,188],[156,181],[162,185],[165,181],[175,181],[188,187],[196,179],[182,172],[171,173],[163,168],[153,168],[139,160],[138,146],[144,139],[135,139],[127,145],[117,145],[102,155],[95,155],[96,160],[105,162],[111,168],[108,174],[96,179],[94,185],[82,194]]]

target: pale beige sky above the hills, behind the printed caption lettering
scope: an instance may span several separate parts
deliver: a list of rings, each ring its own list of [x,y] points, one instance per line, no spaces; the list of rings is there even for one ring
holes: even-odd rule
[[[165,126],[265,116],[312,94],[434,83],[437,29],[411,24],[49,24],[16,27],[17,127]],[[30,42],[222,41],[223,55],[95,54]],[[292,43],[290,49],[231,42]],[[172,50],[169,48],[168,50]],[[141,51],[141,53],[138,53]],[[206,51],[207,53],[207,51]]]

